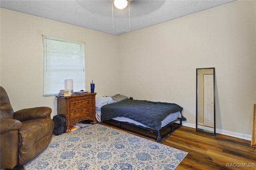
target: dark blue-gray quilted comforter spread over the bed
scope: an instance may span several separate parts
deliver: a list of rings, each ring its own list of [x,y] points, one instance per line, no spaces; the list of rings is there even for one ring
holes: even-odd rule
[[[115,117],[126,117],[159,132],[161,121],[171,113],[181,112],[182,109],[182,107],[174,103],[123,100],[102,106],[101,121]]]

